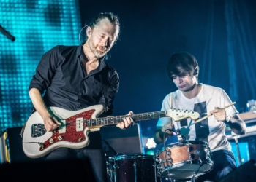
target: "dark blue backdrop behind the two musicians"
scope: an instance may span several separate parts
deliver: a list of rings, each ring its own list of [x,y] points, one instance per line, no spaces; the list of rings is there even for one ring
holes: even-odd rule
[[[235,3],[235,4],[233,4]],[[114,101],[113,115],[159,111],[162,100],[176,90],[165,74],[167,59],[174,52],[187,51],[195,55],[200,66],[199,81],[222,87],[228,95],[237,89],[239,112],[246,111],[248,100],[255,99],[255,1],[82,1],[81,22],[86,25],[99,12],[113,12],[121,23],[120,40],[111,50],[110,66],[120,76],[120,90]],[[244,36],[233,36],[233,63],[230,71],[227,45],[227,8],[234,10],[233,27],[244,30]],[[239,19],[240,16],[240,19]],[[83,27],[81,25],[81,27]],[[234,28],[234,29],[235,29]],[[236,33],[236,30],[233,30]],[[242,31],[241,31],[242,32]],[[243,44],[238,44],[241,37]],[[246,39],[244,39],[246,37]],[[247,53],[240,52],[249,47]],[[250,49],[250,50],[249,50]],[[229,52],[229,53],[228,53]],[[244,54],[244,55],[243,55]],[[249,63],[243,63],[242,56]],[[251,69],[244,71],[245,64]],[[230,82],[236,74],[236,82]],[[249,90],[247,87],[252,88]],[[151,138],[157,120],[140,123],[143,142]]]

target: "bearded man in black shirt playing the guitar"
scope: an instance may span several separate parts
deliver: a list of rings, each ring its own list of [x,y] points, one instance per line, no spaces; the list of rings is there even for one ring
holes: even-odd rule
[[[61,124],[48,112],[49,106],[77,111],[102,104],[105,106],[102,116],[113,113],[119,78],[116,70],[105,63],[105,55],[118,39],[119,29],[118,17],[113,13],[100,13],[86,28],[87,40],[83,45],[56,46],[42,56],[31,79],[29,95],[48,132]],[[129,116],[117,127],[130,127],[133,120]],[[83,149],[55,149],[45,159],[86,159],[94,176],[90,180],[91,174],[88,174],[87,181],[107,181],[101,136],[99,132],[90,132],[89,139],[89,146]]]

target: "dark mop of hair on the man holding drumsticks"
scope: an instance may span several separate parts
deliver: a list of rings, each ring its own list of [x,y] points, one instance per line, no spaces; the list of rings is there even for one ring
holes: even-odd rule
[[[199,66],[197,60],[189,52],[173,54],[167,61],[166,73],[170,79],[176,76],[198,76]]]

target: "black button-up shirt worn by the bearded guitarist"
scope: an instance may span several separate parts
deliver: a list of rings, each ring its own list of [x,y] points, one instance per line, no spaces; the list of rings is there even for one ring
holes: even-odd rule
[[[56,46],[46,52],[31,79],[29,90],[37,88],[42,94],[45,92],[46,106],[72,111],[96,104],[105,106],[106,103],[110,115],[119,87],[118,74],[100,60],[99,66],[87,75],[81,51],[81,46]],[[105,94],[103,87],[108,90]]]

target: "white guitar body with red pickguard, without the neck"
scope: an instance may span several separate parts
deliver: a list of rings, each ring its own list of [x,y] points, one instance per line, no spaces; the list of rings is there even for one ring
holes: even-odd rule
[[[86,127],[86,119],[95,119],[103,112],[102,105],[90,106],[78,111],[50,107],[50,114],[56,117],[61,126],[53,132],[47,132],[41,116],[34,112],[29,117],[23,130],[23,151],[30,158],[42,157],[59,147],[80,149],[89,145],[90,131],[97,127]]]

